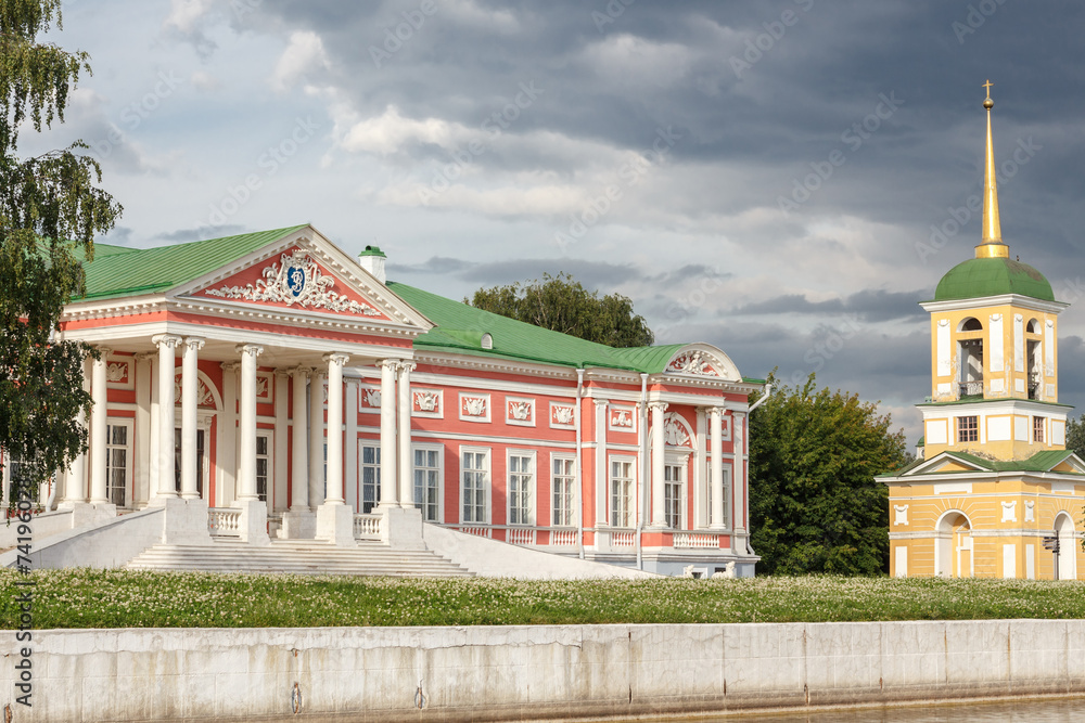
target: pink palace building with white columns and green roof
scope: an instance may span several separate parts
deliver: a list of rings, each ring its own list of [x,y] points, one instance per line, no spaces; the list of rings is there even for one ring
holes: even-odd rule
[[[592,344],[388,282],[384,263],[311,225],[95,245],[62,320],[101,351],[90,449],[42,502],[74,528],[163,507],[163,542],[411,547],[437,525],[753,574],[762,380],[711,345]]]

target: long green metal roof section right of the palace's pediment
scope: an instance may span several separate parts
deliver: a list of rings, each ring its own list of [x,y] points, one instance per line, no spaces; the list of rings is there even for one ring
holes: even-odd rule
[[[414,339],[414,347],[419,349],[658,374],[686,346],[615,349],[475,309],[407,284],[388,282],[388,288],[437,325]],[[493,337],[492,350],[482,348],[483,334]]]

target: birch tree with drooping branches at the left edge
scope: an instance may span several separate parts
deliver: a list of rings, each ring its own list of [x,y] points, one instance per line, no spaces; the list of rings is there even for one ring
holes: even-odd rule
[[[81,260],[120,206],[97,188],[98,163],[76,142],[20,158],[21,128],[63,122],[87,54],[37,37],[61,27],[61,0],[0,0],[0,447],[18,460],[12,500],[87,448],[77,424],[86,345],[59,340],[64,305],[84,288]]]

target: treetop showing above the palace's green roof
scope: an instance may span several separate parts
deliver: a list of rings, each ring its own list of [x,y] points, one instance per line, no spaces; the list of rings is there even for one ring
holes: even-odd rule
[[[542,280],[480,288],[463,299],[477,309],[611,347],[647,347],[654,340],[644,318],[621,294],[600,297],[562,272]]]

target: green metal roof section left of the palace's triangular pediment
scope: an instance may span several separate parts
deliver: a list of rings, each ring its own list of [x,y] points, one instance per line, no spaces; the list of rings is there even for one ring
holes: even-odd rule
[[[81,298],[117,298],[164,292],[304,228],[306,224],[303,223],[285,229],[155,248],[94,244],[94,260],[84,264],[87,272],[87,294]]]

